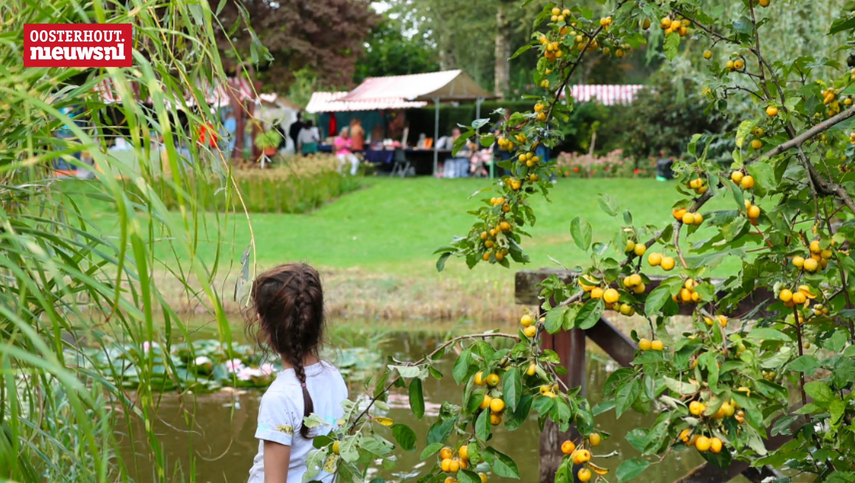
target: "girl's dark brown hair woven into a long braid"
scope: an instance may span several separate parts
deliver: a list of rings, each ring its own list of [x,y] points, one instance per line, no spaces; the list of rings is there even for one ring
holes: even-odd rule
[[[323,338],[323,289],[321,276],[305,263],[285,263],[258,275],[252,282],[251,309],[247,328],[257,327],[257,341],[280,354],[294,367],[303,386],[303,416],[315,410],[306,388],[303,362],[307,356],[319,356]],[[309,427],[300,427],[300,435],[309,438]]]

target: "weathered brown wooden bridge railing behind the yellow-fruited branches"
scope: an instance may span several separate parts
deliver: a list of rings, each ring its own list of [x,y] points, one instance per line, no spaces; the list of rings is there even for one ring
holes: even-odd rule
[[[540,304],[543,301],[539,297],[540,288],[538,284],[550,275],[557,275],[564,283],[575,283],[576,274],[567,270],[549,268],[521,270],[516,272],[516,303],[536,305],[540,315]],[[663,277],[653,278],[651,283],[647,284],[646,292],[652,291],[662,280]],[[742,300],[740,306],[727,315],[745,315],[769,298],[774,298],[774,294],[765,289],[758,289],[752,292],[750,297]],[[692,310],[692,307],[681,306],[681,314],[691,314]],[[763,312],[760,311],[760,313]],[[585,393],[586,338],[591,339],[594,344],[598,345],[623,367],[630,367],[630,362],[635,356],[635,350],[638,348],[633,339],[629,339],[627,335],[612,326],[604,317],[600,317],[599,321],[587,330],[571,329],[555,334],[544,333],[542,336],[544,348],[555,350],[558,356],[561,356],[564,367],[567,368],[567,374],[560,376],[561,379],[569,387],[581,386],[582,394]],[[540,433],[540,483],[552,483],[555,480],[555,472],[561,464],[563,456],[561,443],[566,439],[578,437],[579,433],[575,432],[575,427],[570,427],[568,433],[560,433],[557,425],[547,421],[543,433]],[[790,438],[792,437],[782,435],[769,437],[765,440],[765,445],[772,450],[780,447]],[[727,471],[722,471],[707,462],[698,468],[694,468],[677,481],[679,483],[723,483],[732,480],[739,474],[744,475],[754,483],[760,483],[769,476],[778,476],[772,468],[750,468],[747,462],[734,461]]]

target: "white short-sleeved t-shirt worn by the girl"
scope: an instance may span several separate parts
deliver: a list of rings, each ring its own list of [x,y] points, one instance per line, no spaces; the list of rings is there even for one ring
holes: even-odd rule
[[[264,441],[274,441],[280,445],[291,446],[291,462],[288,464],[288,480],[282,483],[301,483],[306,472],[306,458],[313,448],[312,438],[318,434],[329,433],[333,425],[338,424],[344,415],[341,402],[347,398],[347,386],[339,370],[329,362],[317,362],[305,368],[306,389],[315,405],[314,414],[327,421],[326,427],[315,427],[310,431],[310,439],[300,435],[303,426],[303,388],[294,374],[294,369],[286,369],[276,374],[273,384],[262,396],[258,408],[258,427],[256,438],[258,454],[252,460],[248,483],[264,483]],[[315,480],[332,481],[332,475],[321,471]]]

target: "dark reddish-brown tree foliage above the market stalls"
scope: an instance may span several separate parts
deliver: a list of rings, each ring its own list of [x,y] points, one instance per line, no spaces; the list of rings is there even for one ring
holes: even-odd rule
[[[212,8],[216,8],[211,0]],[[318,83],[350,87],[354,63],[378,20],[368,0],[227,0],[218,15],[217,44],[224,54],[232,44],[241,56],[225,55],[227,68],[260,61],[257,79],[266,88],[284,90],[301,68],[317,74]],[[239,27],[248,20],[271,58],[251,48],[251,32]],[[225,30],[224,30],[225,29]]]

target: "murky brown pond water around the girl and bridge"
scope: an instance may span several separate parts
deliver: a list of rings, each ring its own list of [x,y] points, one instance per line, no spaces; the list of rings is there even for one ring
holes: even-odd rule
[[[400,360],[416,360],[426,350],[431,350],[437,343],[445,339],[445,333],[386,333],[383,342],[376,345],[383,356],[392,355]],[[459,403],[461,392],[451,378],[451,358],[447,358],[439,370],[448,374],[442,380],[429,379],[425,381],[424,395],[428,405],[427,413],[433,409],[435,415],[437,406],[444,400]],[[617,368],[595,346],[587,350],[587,393],[592,403],[601,399],[600,389],[610,372]],[[358,391],[358,383],[351,388],[351,395]],[[252,457],[257,451],[257,440],[253,438],[256,428],[256,417],[259,398],[262,391],[227,391],[210,394],[197,394],[180,399],[173,394],[165,394],[158,411],[158,433],[163,445],[162,457],[167,468],[175,469],[168,477],[171,481],[191,480],[188,471],[195,473],[196,481],[213,483],[221,481],[245,481],[251,466]],[[422,420],[416,419],[410,413],[406,392],[398,392],[390,399],[389,417],[397,422],[404,422],[419,436],[418,448],[414,452],[398,451],[398,468],[392,472],[372,474],[384,476],[390,480],[399,480],[391,476],[393,472],[406,473],[410,469],[424,468],[419,466],[418,455],[424,447],[424,438],[428,427],[433,422],[431,414],[426,414]],[[492,444],[499,451],[514,457],[520,468],[521,480],[534,482],[539,479],[539,443],[540,431],[533,417],[514,432],[504,430],[499,426],[495,431]],[[598,428],[611,434],[598,446],[595,455],[606,455],[616,452],[616,456],[597,458],[598,465],[610,468],[609,480],[614,481],[614,469],[626,458],[639,456],[638,451],[628,444],[624,434],[635,427],[649,427],[655,421],[656,415],[640,415],[632,410],[615,418],[614,411],[609,411],[597,418]],[[121,429],[121,428],[120,428]],[[138,433],[139,434],[139,433]],[[386,435],[392,440],[392,434]],[[141,448],[138,448],[138,451]],[[127,449],[130,451],[130,448]],[[138,453],[139,454],[139,453]],[[188,465],[189,455],[196,455],[195,470]],[[151,481],[150,468],[139,458],[137,474],[139,481]],[[703,462],[695,451],[673,451],[663,464],[653,466],[645,474],[641,474],[635,482],[653,483],[674,481],[686,474],[691,468]],[[183,472],[181,474],[180,472]],[[491,481],[501,481],[501,478],[491,475]],[[415,480],[414,480],[415,481]]]

